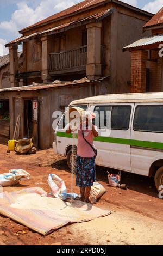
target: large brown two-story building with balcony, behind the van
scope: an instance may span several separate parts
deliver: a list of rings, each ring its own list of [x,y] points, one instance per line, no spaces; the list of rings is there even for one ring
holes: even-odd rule
[[[22,36],[6,45],[11,88],[0,90],[0,99],[9,99],[10,138],[20,116],[19,137],[34,136],[36,146],[49,148],[54,111],[64,111],[75,99],[130,92],[130,53],[122,47],[142,37],[152,16],[118,0],[85,0],[22,29]]]

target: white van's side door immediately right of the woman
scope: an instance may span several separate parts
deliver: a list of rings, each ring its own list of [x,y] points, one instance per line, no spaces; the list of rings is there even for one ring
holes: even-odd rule
[[[99,123],[99,136],[95,138],[98,150],[96,163],[130,172],[130,117],[134,103],[96,105],[92,108],[99,113],[95,119],[95,124]],[[106,127],[109,118],[111,129]]]

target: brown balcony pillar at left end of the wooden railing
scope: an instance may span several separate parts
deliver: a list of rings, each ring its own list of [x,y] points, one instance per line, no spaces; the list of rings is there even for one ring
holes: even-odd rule
[[[51,38],[48,36],[43,36],[41,38],[42,41],[42,80],[43,83],[49,83],[52,82],[52,78],[49,75],[49,70],[48,70],[48,58],[49,58],[49,53],[51,52]]]

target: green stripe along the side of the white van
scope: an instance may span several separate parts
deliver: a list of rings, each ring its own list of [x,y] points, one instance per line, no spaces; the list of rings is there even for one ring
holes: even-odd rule
[[[72,138],[72,133],[66,134],[65,132],[57,132],[57,136]],[[75,138],[78,138],[77,134],[75,135]],[[135,146],[135,147],[141,147],[141,148],[163,149],[163,143],[161,142],[137,141],[134,139],[130,140],[130,139],[123,139],[123,138],[103,137],[103,136],[98,136],[94,138],[94,141],[131,145],[133,147]]]

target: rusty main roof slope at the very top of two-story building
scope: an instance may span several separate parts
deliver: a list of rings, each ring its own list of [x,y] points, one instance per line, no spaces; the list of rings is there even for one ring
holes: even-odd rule
[[[45,24],[47,22],[51,22],[51,21],[60,19],[60,18],[62,18],[64,16],[68,16],[68,15],[71,15],[71,14],[75,15],[78,11],[87,9],[89,7],[93,8],[97,4],[105,4],[105,3],[109,3],[109,2],[114,2],[114,3],[117,3],[117,4],[124,5],[124,6],[128,7],[128,8],[132,8],[134,10],[140,11],[141,13],[144,13],[146,15],[152,15],[151,13],[148,13],[147,11],[144,11],[144,10],[141,10],[139,8],[133,7],[133,6],[129,5],[129,4],[127,4],[127,3],[123,3],[123,2],[118,1],[118,0],[85,0],[83,2],[80,2],[78,4],[73,5],[72,7],[68,8],[66,10],[61,11],[60,13],[54,14],[52,16],[49,16],[49,17],[47,17],[44,20],[41,20],[41,21],[31,25],[31,26],[28,26],[28,27],[26,27],[24,29],[21,29],[20,33],[23,33],[24,31],[26,31],[26,30],[28,30],[30,28],[43,25],[43,24]]]

